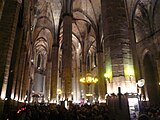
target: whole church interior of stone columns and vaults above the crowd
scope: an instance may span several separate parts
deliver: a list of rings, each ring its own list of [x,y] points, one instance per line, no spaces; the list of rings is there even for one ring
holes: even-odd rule
[[[0,113],[124,95],[160,105],[160,0],[0,0]]]

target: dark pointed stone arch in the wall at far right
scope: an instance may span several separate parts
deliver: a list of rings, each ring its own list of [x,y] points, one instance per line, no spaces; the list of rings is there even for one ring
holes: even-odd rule
[[[150,104],[158,104],[159,100],[159,86],[156,77],[156,68],[154,67],[154,60],[152,54],[148,51],[143,57],[143,73],[145,79],[146,93]]]

